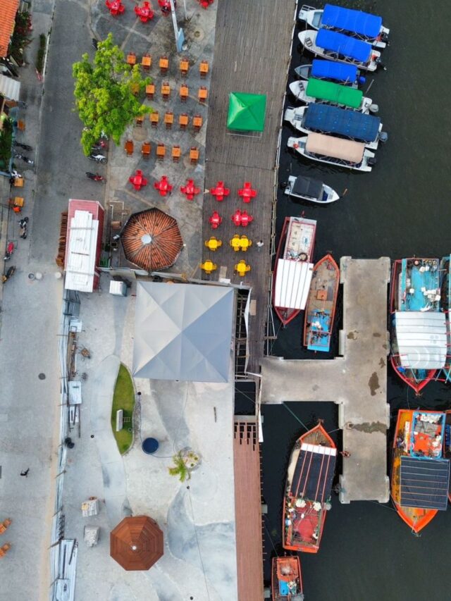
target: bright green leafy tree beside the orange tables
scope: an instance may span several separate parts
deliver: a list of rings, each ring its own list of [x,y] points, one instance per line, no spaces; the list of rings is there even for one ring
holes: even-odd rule
[[[125,128],[135,118],[152,112],[138,98],[151,79],[141,77],[139,66],[131,68],[125,63],[123,51],[113,44],[111,33],[99,42],[92,63],[88,54],[83,54],[82,60],[73,64],[72,75],[75,106],[85,125],[81,144],[86,155],[102,132],[119,144]]]

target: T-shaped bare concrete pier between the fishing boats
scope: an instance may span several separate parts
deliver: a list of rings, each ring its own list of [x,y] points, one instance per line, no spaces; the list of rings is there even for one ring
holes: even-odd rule
[[[387,285],[390,259],[340,260],[340,355],[307,361],[261,360],[261,402],[335,402],[343,430],[340,501],[387,502]]]

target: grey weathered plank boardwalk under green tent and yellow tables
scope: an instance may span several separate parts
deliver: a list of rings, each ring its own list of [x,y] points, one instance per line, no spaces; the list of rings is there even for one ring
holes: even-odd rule
[[[252,288],[249,311],[248,371],[257,371],[264,354],[264,336],[271,282],[271,218],[276,198],[276,156],[285,94],[294,0],[228,0],[218,3],[214,66],[206,128],[205,187],[215,187],[223,180],[230,195],[217,202],[211,194],[204,196],[202,243],[216,236],[222,247],[211,252],[203,247],[202,261],[211,259],[217,269],[205,280],[230,280],[235,285]],[[230,92],[266,94],[266,123],[261,135],[233,135],[227,128]],[[245,181],[252,182],[257,197],[242,202],[237,190]],[[246,209],[254,221],[247,228],[236,228],[231,216],[236,209]],[[213,211],[223,218],[212,230],[209,216]],[[252,240],[247,252],[235,252],[229,245],[235,234]],[[257,242],[264,247],[259,249]],[[234,266],[245,259],[251,271],[244,278],[234,273]]]

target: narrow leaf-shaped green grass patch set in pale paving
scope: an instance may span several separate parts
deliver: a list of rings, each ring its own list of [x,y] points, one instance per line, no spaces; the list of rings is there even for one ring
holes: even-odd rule
[[[111,429],[118,445],[119,452],[124,454],[130,449],[133,440],[132,428],[133,408],[135,407],[135,389],[128,369],[121,363],[116,387],[114,388],[113,407],[111,407]],[[123,409],[124,425],[120,432],[116,432],[116,411]],[[130,418],[130,421],[126,418]]]

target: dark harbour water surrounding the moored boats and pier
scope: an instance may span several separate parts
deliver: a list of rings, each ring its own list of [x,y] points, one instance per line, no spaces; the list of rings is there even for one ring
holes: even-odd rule
[[[380,106],[383,129],[390,138],[376,151],[378,163],[371,173],[352,173],[321,163],[299,159],[282,151],[280,182],[290,173],[322,179],[343,199],[330,206],[292,202],[280,192],[277,223],[304,211],[318,221],[314,259],[331,251],[340,256],[376,258],[390,256],[438,256],[451,251],[451,118],[448,94],[451,5],[445,0],[419,2],[343,1],[383,16],[390,27],[390,47],[383,53],[387,71],[374,80],[368,95]],[[299,5],[300,6],[300,5]],[[297,40],[297,32],[295,40]],[[299,54],[293,45],[292,69],[311,56]],[[365,92],[364,88],[364,92]],[[291,104],[288,98],[288,106]],[[286,140],[295,134],[284,128]],[[336,328],[340,327],[338,311]],[[280,330],[272,352],[286,358],[311,358],[301,348],[302,318]],[[276,323],[278,327],[278,323]],[[337,340],[335,336],[335,352]],[[333,353],[330,354],[330,357]],[[325,371],[324,377],[327,377]],[[388,373],[388,400],[392,418],[400,407],[444,409],[451,407],[451,388],[440,383],[426,387],[420,398]],[[307,427],[317,417],[335,430],[334,404],[289,404]],[[283,406],[265,406],[262,445],[265,518],[265,577],[270,578],[271,555],[282,552],[280,526],[283,488],[288,457],[302,425]],[[393,422],[392,419],[392,422]],[[392,425],[393,427],[393,425]],[[340,433],[335,433],[340,435]],[[340,440],[338,440],[340,442]],[[340,471],[340,467],[338,469]],[[301,554],[307,601],[424,601],[450,599],[447,582],[447,547],[451,511],[439,512],[416,538],[390,504],[356,502],[342,505],[333,496],[319,554]]]

